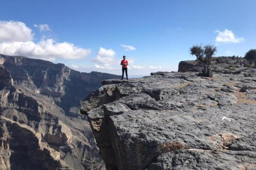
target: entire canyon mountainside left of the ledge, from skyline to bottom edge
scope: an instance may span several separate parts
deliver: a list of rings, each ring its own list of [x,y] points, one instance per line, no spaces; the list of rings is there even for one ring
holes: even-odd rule
[[[0,169],[105,169],[78,104],[119,77],[21,56],[0,64]]]

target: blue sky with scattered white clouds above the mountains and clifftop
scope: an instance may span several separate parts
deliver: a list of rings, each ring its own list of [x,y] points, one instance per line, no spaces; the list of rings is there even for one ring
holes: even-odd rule
[[[177,71],[180,61],[195,59],[189,47],[201,43],[217,45],[216,56],[244,56],[256,48],[254,0],[9,0],[1,6],[1,53],[83,72],[120,74],[123,55],[131,61],[130,75]]]

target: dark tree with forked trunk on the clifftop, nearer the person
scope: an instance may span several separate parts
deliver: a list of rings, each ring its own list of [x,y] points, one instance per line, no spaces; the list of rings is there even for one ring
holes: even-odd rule
[[[195,55],[197,61],[203,63],[204,70],[202,72],[202,76],[210,77],[211,73],[211,62],[212,56],[217,51],[217,47],[212,45],[206,45],[202,47],[201,45],[196,45],[190,48],[190,54]]]

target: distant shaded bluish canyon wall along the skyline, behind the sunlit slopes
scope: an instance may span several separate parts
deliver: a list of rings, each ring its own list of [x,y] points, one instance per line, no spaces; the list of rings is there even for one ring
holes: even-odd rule
[[[79,102],[98,89],[102,80],[121,78],[100,72],[81,73],[64,64],[22,56],[0,55],[0,64],[9,70],[17,86],[51,97],[56,105],[74,116],[79,115]]]

